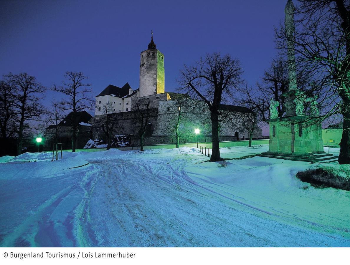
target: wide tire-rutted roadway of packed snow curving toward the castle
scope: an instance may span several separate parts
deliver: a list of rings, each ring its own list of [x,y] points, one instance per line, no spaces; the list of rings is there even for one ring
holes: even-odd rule
[[[227,198],[189,181],[185,171],[188,159],[167,158],[128,156],[114,162],[98,162],[104,172],[109,172],[105,174],[110,176],[110,189],[116,186],[114,193],[106,192],[109,201],[103,205],[98,199],[95,202],[95,208],[100,209],[110,204],[109,211],[102,213],[105,216],[92,224],[96,234],[104,235],[99,245],[314,246],[322,245],[324,238],[328,243],[339,240],[262,219],[261,214],[254,214],[252,207],[248,208],[253,214],[241,211],[237,206],[242,204],[230,199],[232,203],[218,200]],[[100,185],[99,190],[104,188]],[[106,219],[115,223],[106,223],[104,227],[96,224]],[[283,240],[276,240],[276,235],[281,233]],[[306,235],[312,239],[305,240]]]

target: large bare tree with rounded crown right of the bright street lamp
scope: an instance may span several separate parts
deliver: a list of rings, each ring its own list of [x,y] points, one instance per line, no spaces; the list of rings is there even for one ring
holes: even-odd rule
[[[220,160],[219,150],[219,106],[229,101],[241,85],[243,71],[238,59],[220,53],[207,54],[194,66],[184,65],[180,71],[180,91],[191,98],[203,101],[209,108],[212,125],[212,155],[210,160]]]

